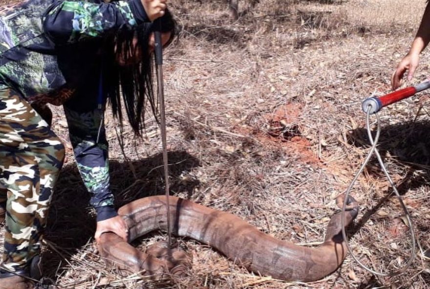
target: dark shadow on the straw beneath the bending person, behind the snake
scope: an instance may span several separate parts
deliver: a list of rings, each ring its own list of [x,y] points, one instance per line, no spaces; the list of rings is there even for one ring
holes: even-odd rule
[[[171,164],[171,193],[186,192],[191,197],[200,183],[188,172],[199,165],[198,159],[185,151],[169,152],[168,158]],[[115,206],[165,194],[162,164],[162,154],[131,162],[110,161],[110,183]],[[59,276],[68,259],[92,242],[95,215],[89,206],[89,199],[90,194],[81,181],[76,165],[66,165],[56,185],[45,234],[48,248],[43,262],[48,276]]]

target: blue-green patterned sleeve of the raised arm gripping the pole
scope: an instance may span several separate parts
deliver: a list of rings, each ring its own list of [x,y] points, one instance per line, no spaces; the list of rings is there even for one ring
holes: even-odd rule
[[[148,17],[141,0],[93,3],[54,0],[43,19],[43,31],[56,44],[101,37],[123,25],[138,25]]]

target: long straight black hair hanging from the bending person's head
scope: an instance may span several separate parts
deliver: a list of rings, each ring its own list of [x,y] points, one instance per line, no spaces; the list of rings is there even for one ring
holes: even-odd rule
[[[154,116],[157,116],[158,103],[153,88],[153,59],[148,46],[153,31],[152,23],[143,23],[135,27],[123,26],[106,44],[107,50],[104,52],[102,63],[104,93],[112,107],[113,115],[119,120],[122,128],[122,96],[129,124],[136,136],[142,136],[147,104],[150,105]],[[161,32],[171,32],[166,47],[176,35],[176,23],[168,9],[161,18]],[[129,62],[136,55],[140,56],[140,61],[131,61],[127,65],[119,64]]]

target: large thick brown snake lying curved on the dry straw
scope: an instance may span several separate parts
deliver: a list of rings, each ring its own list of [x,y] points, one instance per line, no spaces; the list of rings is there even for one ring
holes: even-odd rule
[[[237,264],[261,275],[289,281],[315,281],[335,271],[347,253],[341,232],[341,213],[333,215],[324,243],[306,248],[277,240],[242,219],[191,201],[170,197],[172,233],[193,238],[222,252]],[[358,205],[351,198],[345,213],[345,226],[357,216]],[[153,230],[166,230],[166,197],[153,196],[122,206],[118,213],[129,226],[129,241]],[[148,274],[175,274],[174,264],[143,253],[113,233],[102,235],[99,252],[108,264]],[[183,258],[180,251],[172,260]],[[176,263],[175,263],[176,262]],[[172,271],[173,269],[173,271]]]

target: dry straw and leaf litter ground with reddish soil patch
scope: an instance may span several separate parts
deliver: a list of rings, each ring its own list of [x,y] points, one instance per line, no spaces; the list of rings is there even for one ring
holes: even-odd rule
[[[368,151],[361,101],[389,91],[425,1],[243,0],[238,21],[229,19],[226,1],[170,5],[182,26],[164,65],[172,194],[236,214],[276,238],[317,246],[338,209],[334,198]],[[412,83],[426,78],[429,60],[424,53]],[[179,240],[193,257],[186,277],[156,283],[107,269],[93,246],[93,212],[70,146],[50,211],[48,271],[65,288],[426,288],[428,104],[422,93],[381,112],[381,154],[420,244],[402,276],[372,276],[348,256],[321,281],[284,282],[252,274],[188,239]],[[54,110],[54,130],[67,140],[62,110]],[[155,121],[148,118],[141,140],[126,126],[121,144],[109,112],[106,124],[117,206],[163,194]],[[390,193],[372,159],[352,191],[362,210],[349,233],[357,257],[375,270],[409,257],[408,227]],[[135,245],[165,239],[156,232]]]

